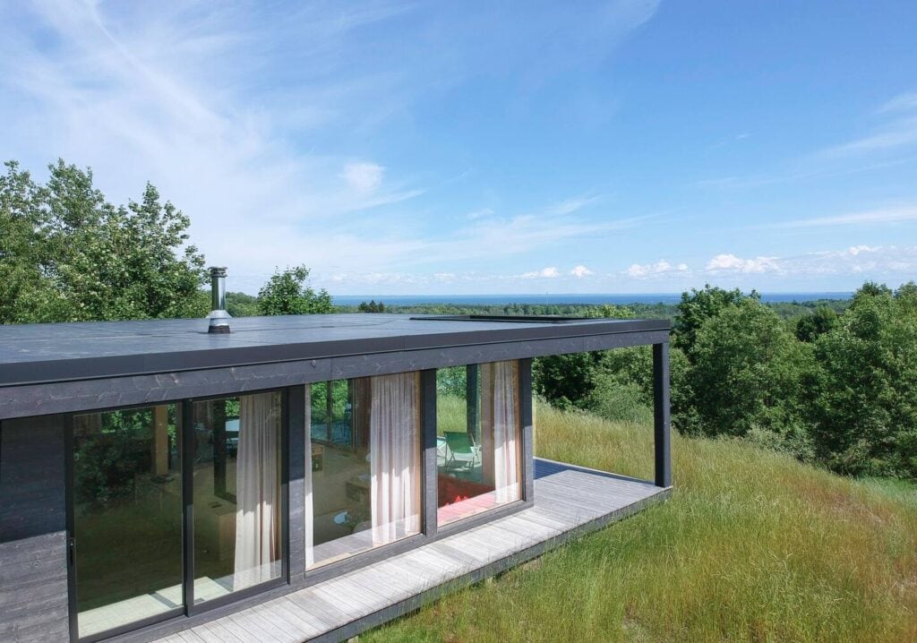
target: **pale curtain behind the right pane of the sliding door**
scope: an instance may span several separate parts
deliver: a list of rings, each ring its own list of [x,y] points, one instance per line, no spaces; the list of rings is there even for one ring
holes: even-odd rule
[[[277,576],[273,567],[281,551],[280,423],[275,394],[239,396],[234,590]]]

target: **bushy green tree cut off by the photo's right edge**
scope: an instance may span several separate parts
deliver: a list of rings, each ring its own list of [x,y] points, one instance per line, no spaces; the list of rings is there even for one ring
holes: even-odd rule
[[[917,477],[917,288],[856,292],[814,344],[819,458],[836,471]]]

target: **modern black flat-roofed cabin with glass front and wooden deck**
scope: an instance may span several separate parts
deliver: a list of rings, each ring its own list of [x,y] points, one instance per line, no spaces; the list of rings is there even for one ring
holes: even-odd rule
[[[0,327],[0,640],[341,640],[669,493],[667,321],[226,322]],[[532,359],[638,345],[655,480],[535,458]]]

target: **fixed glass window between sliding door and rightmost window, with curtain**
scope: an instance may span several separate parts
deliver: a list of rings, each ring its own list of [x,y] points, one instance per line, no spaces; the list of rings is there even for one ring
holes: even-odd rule
[[[415,372],[306,386],[306,564],[420,533],[421,421]]]

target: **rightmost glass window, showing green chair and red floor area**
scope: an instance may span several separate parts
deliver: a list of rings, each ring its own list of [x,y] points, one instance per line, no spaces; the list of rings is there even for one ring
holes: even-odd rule
[[[438,525],[520,498],[516,361],[436,371]]]

